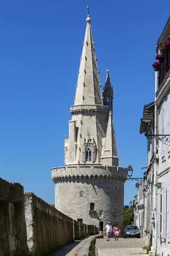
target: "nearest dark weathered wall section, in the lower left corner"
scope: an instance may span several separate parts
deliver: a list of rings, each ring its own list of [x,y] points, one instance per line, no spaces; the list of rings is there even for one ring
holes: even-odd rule
[[[23,186],[1,178],[0,255],[28,255]]]

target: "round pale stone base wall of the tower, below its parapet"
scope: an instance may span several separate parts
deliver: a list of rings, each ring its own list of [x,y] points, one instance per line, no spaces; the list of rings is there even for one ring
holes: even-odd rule
[[[82,218],[85,224],[99,226],[99,222],[103,221],[105,226],[108,221],[111,221],[112,226],[114,224],[121,226],[124,182],[105,177],[107,173],[105,170],[103,170],[102,177],[86,178],[82,177],[81,173],[85,175],[85,172],[79,170],[82,180],[76,180],[75,176],[70,180],[65,180],[65,182],[61,180],[55,184],[55,207],[75,220]],[[93,211],[90,209],[90,203],[94,203]]]

